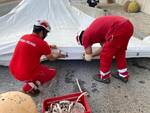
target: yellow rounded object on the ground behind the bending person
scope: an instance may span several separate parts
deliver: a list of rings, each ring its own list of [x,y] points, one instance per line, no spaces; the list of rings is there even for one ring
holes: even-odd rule
[[[128,12],[129,13],[137,13],[140,11],[140,5],[136,0],[133,0],[128,5]]]

